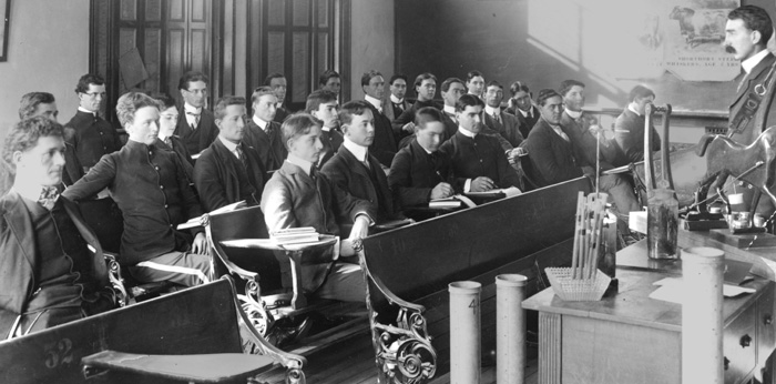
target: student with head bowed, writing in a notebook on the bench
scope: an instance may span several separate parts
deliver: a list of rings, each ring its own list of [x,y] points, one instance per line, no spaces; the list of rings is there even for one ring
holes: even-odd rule
[[[402,209],[427,205],[430,200],[449,198],[450,158],[440,153],[445,123],[439,110],[425,107],[415,114],[415,140],[394,158],[388,184],[398,194]]]

